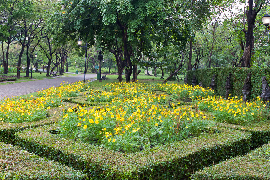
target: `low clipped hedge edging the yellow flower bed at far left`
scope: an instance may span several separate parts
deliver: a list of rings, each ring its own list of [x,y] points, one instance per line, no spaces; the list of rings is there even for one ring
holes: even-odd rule
[[[49,124],[58,123],[61,121],[61,111],[65,108],[73,107],[73,103],[62,103],[63,107],[54,107],[47,110],[48,118],[41,119],[38,121],[24,122],[24,123],[7,123],[0,121],[0,142],[14,144],[15,136],[14,133],[24,130],[26,128],[34,128]],[[70,104],[67,106],[67,104]],[[54,112],[56,113],[54,114]]]

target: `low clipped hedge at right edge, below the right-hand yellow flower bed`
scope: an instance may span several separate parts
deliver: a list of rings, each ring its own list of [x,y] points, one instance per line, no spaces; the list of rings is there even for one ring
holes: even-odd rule
[[[223,123],[215,123],[217,126],[222,126],[225,128],[231,128],[235,130],[246,131],[252,134],[251,139],[251,148],[257,148],[262,146],[265,143],[270,141],[270,120],[269,121],[261,121],[258,123],[248,124],[244,126],[234,125],[234,124],[223,124]]]

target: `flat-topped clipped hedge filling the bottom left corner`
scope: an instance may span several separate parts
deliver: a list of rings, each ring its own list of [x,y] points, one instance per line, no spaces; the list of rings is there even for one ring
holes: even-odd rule
[[[86,174],[0,142],[0,179],[88,179]]]

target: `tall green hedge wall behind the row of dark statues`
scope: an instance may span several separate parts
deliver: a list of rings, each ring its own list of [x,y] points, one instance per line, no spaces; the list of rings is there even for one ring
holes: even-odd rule
[[[197,84],[200,81],[203,83],[203,87],[210,87],[211,79],[214,74],[216,74],[215,83],[216,89],[215,93],[219,96],[225,96],[225,84],[226,77],[229,73],[232,73],[231,84],[233,85],[230,91],[231,96],[243,96],[242,88],[244,81],[247,77],[247,73],[251,73],[251,92],[248,95],[248,99],[255,98],[262,93],[262,76],[267,76],[269,82],[270,68],[239,68],[239,67],[224,67],[224,68],[205,68],[190,70],[187,72],[188,84],[192,85],[191,79],[193,74],[195,74],[197,79]]]

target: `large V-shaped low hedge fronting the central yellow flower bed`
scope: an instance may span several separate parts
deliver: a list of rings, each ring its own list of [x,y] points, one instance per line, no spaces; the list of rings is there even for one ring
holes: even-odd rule
[[[181,179],[204,166],[250,150],[251,134],[228,128],[142,150],[121,153],[50,134],[58,124],[15,134],[22,148],[81,169],[90,179]]]

